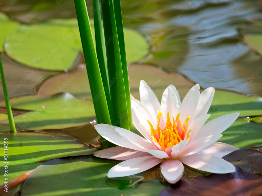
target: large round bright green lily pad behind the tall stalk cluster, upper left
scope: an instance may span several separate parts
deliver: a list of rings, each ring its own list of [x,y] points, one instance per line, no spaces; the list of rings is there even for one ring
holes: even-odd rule
[[[127,61],[137,61],[134,56],[146,48],[147,42],[134,30],[125,28],[124,35]],[[20,25],[7,37],[5,50],[14,60],[27,66],[56,71],[69,69],[82,51],[77,20],[56,19],[45,23],[43,18],[39,18],[34,25]]]

